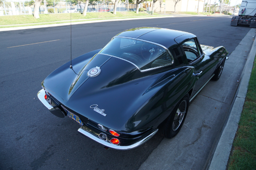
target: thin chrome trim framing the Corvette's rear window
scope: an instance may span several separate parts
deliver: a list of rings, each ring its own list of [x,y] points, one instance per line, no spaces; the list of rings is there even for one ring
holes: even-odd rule
[[[166,48],[165,46],[161,45],[161,44],[158,44],[156,42],[151,42],[151,41],[147,41],[147,40],[141,40],[139,38],[131,38],[131,37],[119,37],[119,36],[116,36],[116,37],[113,37],[113,38],[127,38],[127,39],[133,39],[133,40],[139,40],[139,41],[144,41],[144,42],[148,42],[148,43],[152,43],[152,44],[155,44],[155,45],[159,45],[160,47],[164,48],[170,55],[170,57],[172,58],[172,62],[170,62],[169,64],[166,64],[166,65],[161,65],[161,66],[158,66],[158,67],[154,67],[154,68],[148,68],[148,69],[145,69],[145,70],[140,70],[140,68],[135,65],[133,62],[130,62],[126,59],[122,59],[120,57],[116,57],[116,56],[112,56],[112,55],[109,55],[109,54],[105,54],[105,55],[108,55],[108,56],[111,56],[111,57],[116,57],[116,58],[119,58],[119,59],[122,59],[122,60],[125,60],[127,62],[130,62],[131,64],[133,64],[136,68],[138,68],[138,70],[140,70],[140,72],[145,72],[145,71],[150,71],[150,70],[154,70],[154,69],[157,69],[157,68],[161,68],[161,67],[165,67],[167,65],[172,65],[174,63],[174,58],[172,57],[172,54],[170,53],[170,51],[168,50],[168,48]],[[113,40],[113,38],[111,40]],[[100,54],[104,54],[104,53],[100,53]]]

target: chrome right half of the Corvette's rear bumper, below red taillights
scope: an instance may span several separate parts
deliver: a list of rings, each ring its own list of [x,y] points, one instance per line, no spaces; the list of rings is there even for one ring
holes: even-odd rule
[[[154,132],[150,133],[148,136],[146,136],[144,139],[140,140],[139,142],[132,144],[130,146],[119,146],[119,145],[115,145],[115,144],[111,144],[108,142],[103,141],[102,139],[99,139],[98,137],[92,135],[90,132],[84,130],[82,127],[79,128],[78,130],[80,133],[82,133],[83,135],[89,137],[90,139],[95,140],[96,142],[99,142],[100,144],[105,145],[106,147],[111,147],[113,149],[117,149],[117,150],[129,150],[129,149],[133,149],[135,147],[140,146],[141,144],[145,143],[148,141],[148,139],[150,139],[152,136],[154,136],[154,134],[157,133],[158,129],[155,130]]]

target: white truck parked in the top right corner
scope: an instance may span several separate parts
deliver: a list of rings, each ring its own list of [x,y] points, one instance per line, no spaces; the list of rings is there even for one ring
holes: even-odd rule
[[[256,0],[242,1],[238,16],[232,17],[231,26],[238,24],[250,25],[256,28]]]

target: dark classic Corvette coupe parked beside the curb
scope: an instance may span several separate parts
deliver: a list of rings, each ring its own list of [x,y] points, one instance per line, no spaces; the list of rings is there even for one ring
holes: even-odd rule
[[[53,71],[38,98],[55,116],[79,123],[85,136],[128,150],[157,131],[174,137],[189,102],[220,78],[227,54],[187,32],[133,28],[73,59],[73,68],[68,62]]]

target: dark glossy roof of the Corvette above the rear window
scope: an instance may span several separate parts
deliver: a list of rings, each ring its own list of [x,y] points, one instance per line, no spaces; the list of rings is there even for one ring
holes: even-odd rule
[[[177,45],[174,39],[184,34],[190,34],[191,37],[196,37],[194,34],[188,32],[153,27],[140,27],[128,29],[121,32],[120,34],[117,34],[116,37],[131,37],[140,40],[147,40],[161,44],[166,48],[169,48],[172,45]]]

